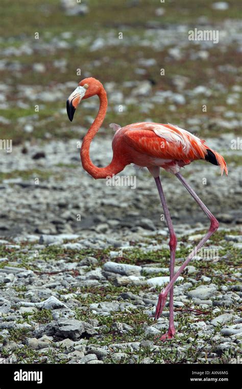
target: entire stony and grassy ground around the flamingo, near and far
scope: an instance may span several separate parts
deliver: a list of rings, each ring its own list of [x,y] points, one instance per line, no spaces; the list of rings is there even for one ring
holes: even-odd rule
[[[22,0],[24,11],[3,3],[0,362],[238,363],[239,3]],[[219,30],[219,42],[189,41],[195,27]],[[181,171],[221,227],[175,286],[173,341],[159,340],[168,301],[154,320],[169,246],[153,178],[128,166],[120,177],[133,185],[109,186],[81,167],[81,141],[99,102],[83,101],[70,123],[65,101],[88,76],[104,83],[109,100],[91,145],[96,165],[112,157],[109,123],[137,121],[186,128],[228,163],[228,177],[203,161]],[[177,270],[209,222],[175,177],[162,171],[161,180],[178,236]]]

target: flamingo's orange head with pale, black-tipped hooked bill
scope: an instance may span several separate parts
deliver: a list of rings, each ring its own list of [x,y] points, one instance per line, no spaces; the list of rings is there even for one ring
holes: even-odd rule
[[[102,83],[93,77],[84,78],[80,81],[78,87],[66,100],[66,110],[69,120],[73,120],[75,111],[81,100],[98,95],[102,88]]]

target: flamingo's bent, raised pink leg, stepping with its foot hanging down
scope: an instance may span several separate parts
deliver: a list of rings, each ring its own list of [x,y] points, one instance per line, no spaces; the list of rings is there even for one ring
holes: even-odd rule
[[[203,239],[199,242],[199,244],[195,247],[195,249],[193,249],[191,251],[191,253],[188,255],[188,257],[186,258],[184,263],[181,265],[180,269],[176,272],[176,274],[170,280],[168,285],[160,293],[157,308],[156,308],[156,317],[159,317],[161,315],[163,308],[165,306],[167,294],[174,287],[174,284],[175,284],[177,278],[179,277],[179,275],[183,272],[183,270],[188,265],[190,260],[198,252],[198,250],[204,245],[204,243],[209,239],[209,237],[217,230],[217,228],[219,228],[219,222],[215,219],[215,217],[209,211],[209,209],[206,207],[206,205],[203,204],[202,200],[198,197],[198,195],[190,187],[190,185],[185,181],[185,179],[182,177],[182,175],[180,173],[177,173],[176,176],[181,181],[181,183],[185,186],[185,188],[188,190],[188,192],[193,197],[193,199],[195,199],[195,201],[200,206],[200,208],[205,212],[205,214],[209,218],[211,224],[210,224],[210,228],[209,228],[208,232],[204,235]]]

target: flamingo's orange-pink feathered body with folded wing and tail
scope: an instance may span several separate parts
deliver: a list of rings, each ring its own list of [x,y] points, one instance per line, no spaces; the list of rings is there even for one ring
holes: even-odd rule
[[[171,124],[140,122],[116,130],[113,155],[126,164],[162,167],[174,174],[194,160],[206,159],[208,150],[215,156],[222,174],[227,167],[224,158],[209,148],[204,140]]]

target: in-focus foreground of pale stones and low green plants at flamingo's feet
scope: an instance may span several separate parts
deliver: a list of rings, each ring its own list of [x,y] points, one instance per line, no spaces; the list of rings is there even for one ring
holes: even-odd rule
[[[178,235],[176,269],[201,239],[188,228]],[[122,240],[118,233],[86,230],[1,243],[3,362],[238,362],[238,230],[217,232],[178,279],[177,335],[165,343],[159,336],[167,330],[168,310],[157,321],[153,316],[168,280],[166,229],[140,228]]]

